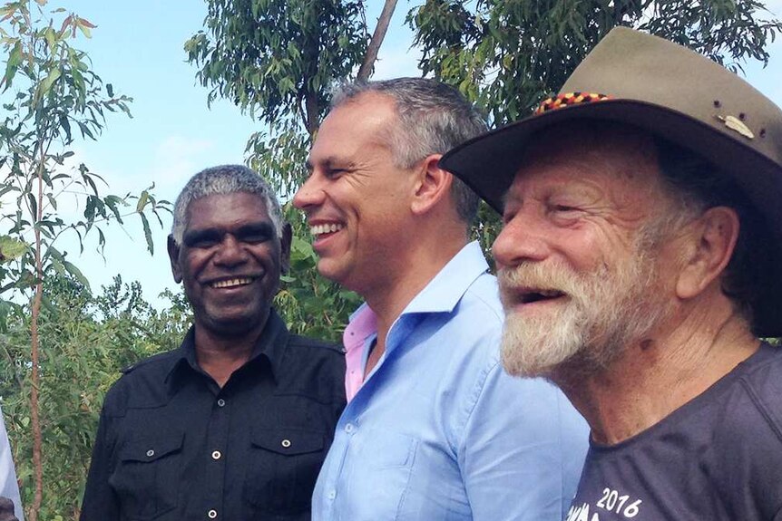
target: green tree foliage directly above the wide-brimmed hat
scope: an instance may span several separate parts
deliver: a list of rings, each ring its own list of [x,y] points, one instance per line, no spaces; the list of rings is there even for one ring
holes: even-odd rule
[[[425,75],[458,86],[500,126],[556,92],[616,25],[658,34],[736,70],[767,62],[782,29],[756,0],[426,0],[407,16]]]

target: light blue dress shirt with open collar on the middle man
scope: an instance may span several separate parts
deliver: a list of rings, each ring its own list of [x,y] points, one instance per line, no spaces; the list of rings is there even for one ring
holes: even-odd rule
[[[314,521],[564,518],[588,429],[550,383],[503,371],[487,269],[464,246],[392,325],[337,424]]]

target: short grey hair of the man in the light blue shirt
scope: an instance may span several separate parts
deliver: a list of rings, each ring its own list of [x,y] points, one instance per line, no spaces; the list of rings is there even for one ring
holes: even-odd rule
[[[396,78],[380,82],[338,85],[331,108],[355,100],[365,92],[377,92],[396,103],[397,123],[388,129],[396,167],[412,168],[431,154],[445,154],[456,145],[487,130],[486,121],[464,96],[445,83],[428,78]],[[459,178],[451,187],[459,217],[468,225],[478,211],[480,198]]]

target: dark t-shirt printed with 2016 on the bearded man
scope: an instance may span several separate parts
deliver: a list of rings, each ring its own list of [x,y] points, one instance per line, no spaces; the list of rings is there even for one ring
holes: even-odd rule
[[[764,343],[650,429],[591,444],[566,521],[630,519],[782,520],[782,349]]]

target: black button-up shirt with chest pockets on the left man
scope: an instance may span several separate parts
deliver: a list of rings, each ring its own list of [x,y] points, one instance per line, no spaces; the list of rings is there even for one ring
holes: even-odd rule
[[[139,362],[106,395],[82,521],[308,520],[345,407],[335,346],[269,321],[220,389],[181,347]]]

